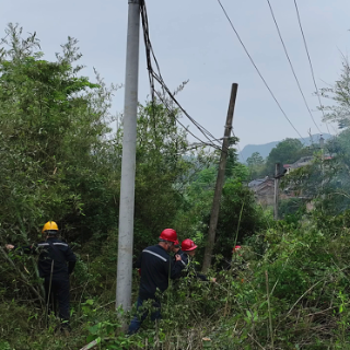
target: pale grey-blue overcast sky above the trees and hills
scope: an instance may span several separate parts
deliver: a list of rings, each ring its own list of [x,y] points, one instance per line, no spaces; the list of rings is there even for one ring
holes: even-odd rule
[[[285,58],[265,0],[221,0],[233,24],[287,116],[298,131],[317,133]],[[314,118],[326,132],[314,96],[307,56],[293,0],[270,0],[296,75]],[[318,88],[332,84],[341,71],[341,56],[350,44],[349,0],[299,0],[299,10]],[[284,118],[246,56],[218,0],[147,0],[150,37],[162,75],[173,91],[189,80],[178,101],[217,138],[224,132],[232,83],[238,83],[234,133],[240,147],[259,144],[298,133]],[[127,0],[12,0],[2,3],[0,30],[9,22],[37,33],[46,59],[55,59],[68,36],[79,39],[93,78],[95,68],[105,81],[125,82]],[[150,88],[144,46],[140,42],[139,101]],[[323,101],[324,104],[330,102]],[[116,92],[113,113],[121,113],[124,90]],[[190,125],[186,119],[184,124]],[[194,127],[196,135],[200,136]],[[331,127],[332,135],[337,132]],[[201,138],[203,138],[201,136]]]

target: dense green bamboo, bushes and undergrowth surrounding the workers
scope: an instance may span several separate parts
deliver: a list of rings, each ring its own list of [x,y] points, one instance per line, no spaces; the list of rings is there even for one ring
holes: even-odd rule
[[[122,118],[112,132],[109,106],[117,89],[98,74],[95,82],[80,75],[77,40],[49,62],[35,35],[21,35],[9,26],[0,58],[0,350],[75,350],[92,340],[96,349],[350,348],[348,129],[327,144],[337,156],[326,161],[318,150],[285,179],[316,209],[293,199],[278,222],[246,186],[261,158],[247,167],[232,147],[210,270],[217,283],[173,283],[162,296],[161,323],[145,322],[126,338],[114,302]],[[190,153],[174,114],[180,117],[159,102],[139,107],[135,255],[173,226],[199,245],[200,264],[219,154]],[[285,140],[266,164],[303,152]],[[50,219],[79,256],[68,338],[55,332],[55,317],[45,325],[35,260],[2,248],[37,242]],[[242,253],[228,268],[235,241]]]

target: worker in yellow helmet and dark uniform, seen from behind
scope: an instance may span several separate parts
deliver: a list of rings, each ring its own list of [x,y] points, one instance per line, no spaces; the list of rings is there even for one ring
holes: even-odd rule
[[[46,305],[49,311],[56,312],[56,301],[58,302],[61,330],[67,332],[70,314],[69,275],[73,272],[77,258],[69,245],[58,238],[59,230],[55,221],[48,221],[42,233],[46,237],[44,242],[23,247],[7,244],[5,247],[9,250],[38,255],[38,270],[39,276],[44,278]]]

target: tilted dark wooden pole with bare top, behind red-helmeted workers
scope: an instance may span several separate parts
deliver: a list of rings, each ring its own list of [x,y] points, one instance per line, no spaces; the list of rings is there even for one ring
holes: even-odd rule
[[[237,90],[238,90],[238,84],[232,84],[231,98],[230,98],[230,105],[229,105],[229,112],[228,112],[226,125],[225,125],[225,132],[222,141],[222,151],[221,151],[220,165],[219,165],[218,177],[217,177],[214,199],[212,202],[211,214],[210,214],[208,241],[207,241],[205,260],[202,266],[202,271],[205,272],[210,268],[212,249],[215,242],[215,232],[217,232],[219,210],[220,210],[220,199],[222,194],[222,187],[224,184],[225,167],[226,167],[226,160],[228,160],[229,145],[230,145],[229,138],[231,136],[231,130],[232,130],[232,120],[233,120],[234,106],[235,106],[236,96],[237,96]]]

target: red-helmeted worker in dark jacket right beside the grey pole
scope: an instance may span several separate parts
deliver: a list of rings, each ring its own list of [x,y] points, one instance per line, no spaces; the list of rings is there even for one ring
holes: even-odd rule
[[[141,269],[137,308],[141,307],[144,301],[152,300],[153,307],[156,310],[151,315],[152,320],[161,318],[161,304],[159,298],[155,295],[156,291],[164,292],[168,287],[168,280],[179,277],[184,269],[179,255],[175,256],[175,261],[170,256],[170,252],[177,241],[176,231],[173,229],[165,229],[161,233],[158,245],[143,249],[140,259],[137,262],[137,267]],[[129,335],[139,330],[147,315],[148,312],[144,312],[141,317],[138,315],[133,317],[129,326]]]

